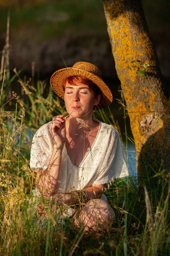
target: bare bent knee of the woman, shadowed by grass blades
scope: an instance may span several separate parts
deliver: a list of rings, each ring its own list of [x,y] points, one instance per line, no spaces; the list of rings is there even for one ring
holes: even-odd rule
[[[111,206],[102,199],[91,199],[82,210],[77,210],[74,215],[74,226],[77,230],[82,229],[85,233],[102,230],[109,231],[111,219],[115,218],[115,213]],[[110,220],[110,221],[109,221]]]

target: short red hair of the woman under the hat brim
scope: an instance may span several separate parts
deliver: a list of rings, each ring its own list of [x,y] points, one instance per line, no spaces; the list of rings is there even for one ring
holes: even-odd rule
[[[91,87],[91,89],[94,90],[95,96],[101,94],[100,93],[100,89],[99,87],[94,84],[94,82],[92,82],[91,80],[82,77],[82,76],[70,76],[67,79],[65,79],[64,84],[62,85],[63,90],[65,91],[65,86],[66,83],[68,82],[68,84],[70,85],[79,85],[79,84],[85,84]]]

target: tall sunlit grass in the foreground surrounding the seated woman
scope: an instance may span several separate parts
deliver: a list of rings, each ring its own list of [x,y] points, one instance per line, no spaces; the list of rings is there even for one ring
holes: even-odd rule
[[[0,255],[170,254],[170,176],[163,167],[157,177],[146,178],[156,180],[154,189],[149,182],[136,186],[132,177],[107,184],[105,195],[116,221],[101,239],[95,233],[87,238],[81,230],[75,231],[69,218],[59,224],[49,206],[47,223],[42,224],[32,205],[31,139],[37,128],[66,111],[45,81],[37,81],[35,88],[31,81],[22,81],[16,70],[15,76],[24,93],[12,94],[11,111],[6,108],[9,81],[5,76],[0,86]],[[119,129],[111,112],[100,110],[94,116]]]

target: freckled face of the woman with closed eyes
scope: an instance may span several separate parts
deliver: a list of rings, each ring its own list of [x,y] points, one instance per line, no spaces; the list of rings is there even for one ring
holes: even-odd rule
[[[95,95],[94,90],[85,84],[65,86],[65,107],[68,114],[74,118],[91,118],[94,105],[98,105],[100,95]]]

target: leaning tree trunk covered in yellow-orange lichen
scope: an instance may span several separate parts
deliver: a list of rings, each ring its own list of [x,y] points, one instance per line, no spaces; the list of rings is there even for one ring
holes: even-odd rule
[[[170,118],[142,3],[140,0],[103,0],[103,3],[135,140],[138,174],[144,172],[144,161],[155,174],[162,160],[169,167],[170,157],[165,154],[170,155]]]

